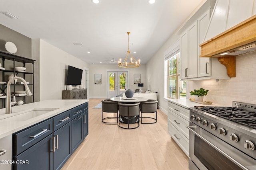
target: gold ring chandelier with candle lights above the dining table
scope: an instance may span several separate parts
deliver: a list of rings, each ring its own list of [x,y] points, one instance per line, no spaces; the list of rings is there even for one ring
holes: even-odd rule
[[[130,41],[130,39],[129,39],[130,32],[128,32],[127,34],[128,34],[128,51],[127,51],[127,55],[126,55],[124,61],[122,61],[121,59],[118,61],[118,66],[122,67],[122,68],[138,67],[138,66],[140,66],[140,59],[138,61],[136,61],[134,59],[134,57],[130,54],[130,42],[129,42]]]

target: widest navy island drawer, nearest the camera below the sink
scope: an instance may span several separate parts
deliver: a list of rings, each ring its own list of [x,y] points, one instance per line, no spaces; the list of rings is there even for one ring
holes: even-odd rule
[[[14,156],[20,154],[24,150],[28,149],[32,145],[38,143],[53,132],[52,119],[48,119],[29,127],[26,130],[22,130],[13,135],[14,137]]]

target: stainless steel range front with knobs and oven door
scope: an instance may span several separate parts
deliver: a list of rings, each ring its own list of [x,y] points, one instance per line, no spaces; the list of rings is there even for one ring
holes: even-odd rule
[[[187,128],[190,170],[256,170],[256,129],[196,108]]]

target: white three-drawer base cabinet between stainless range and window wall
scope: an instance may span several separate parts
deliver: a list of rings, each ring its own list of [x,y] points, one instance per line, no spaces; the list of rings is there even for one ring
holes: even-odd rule
[[[168,133],[188,156],[189,147],[189,110],[168,102]]]

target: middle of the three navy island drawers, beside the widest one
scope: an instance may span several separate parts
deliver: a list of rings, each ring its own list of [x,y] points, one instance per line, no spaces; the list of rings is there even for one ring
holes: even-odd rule
[[[71,121],[72,117],[72,110],[65,111],[63,113],[60,113],[57,116],[53,117],[53,131],[56,131],[60,127],[66,125],[68,122]]]

